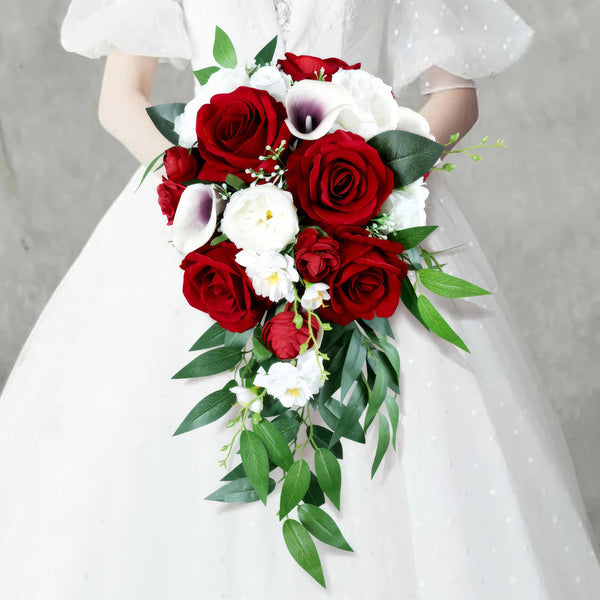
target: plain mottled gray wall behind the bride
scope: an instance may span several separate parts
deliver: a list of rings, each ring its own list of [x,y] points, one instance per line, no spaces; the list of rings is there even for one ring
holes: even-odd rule
[[[102,62],[59,46],[67,4],[0,0],[0,385],[136,167],[96,119]],[[450,183],[543,375],[600,532],[600,3],[511,4],[536,38],[524,60],[479,83],[468,138],[501,136],[509,150],[464,164]],[[185,99],[190,82],[161,67],[156,100]]]

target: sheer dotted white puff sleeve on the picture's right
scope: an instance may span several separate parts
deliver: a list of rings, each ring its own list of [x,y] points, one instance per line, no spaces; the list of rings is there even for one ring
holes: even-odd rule
[[[422,74],[423,93],[472,87],[471,80],[516,62],[533,35],[504,0],[391,1],[388,55],[394,87]],[[439,68],[429,70],[433,66]]]

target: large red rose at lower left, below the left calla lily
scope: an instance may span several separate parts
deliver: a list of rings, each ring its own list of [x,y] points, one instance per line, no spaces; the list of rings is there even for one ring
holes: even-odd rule
[[[270,303],[254,293],[246,271],[235,262],[238,252],[232,242],[205,246],[188,254],[181,268],[183,295],[190,305],[228,331],[241,333],[258,325]]]

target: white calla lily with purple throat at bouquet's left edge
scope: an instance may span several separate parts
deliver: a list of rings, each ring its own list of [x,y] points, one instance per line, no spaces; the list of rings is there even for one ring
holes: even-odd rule
[[[188,185],[173,219],[173,244],[182,254],[197,250],[212,237],[217,227],[219,200],[212,185]]]

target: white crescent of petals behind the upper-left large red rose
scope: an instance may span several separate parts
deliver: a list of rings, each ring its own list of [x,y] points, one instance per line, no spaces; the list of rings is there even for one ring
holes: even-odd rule
[[[175,119],[174,129],[179,135],[179,145],[191,148],[196,142],[196,116],[200,107],[208,104],[216,94],[229,94],[242,85],[249,85],[250,79],[246,67],[220,69],[200,87],[196,96],[187,103],[185,110]]]

